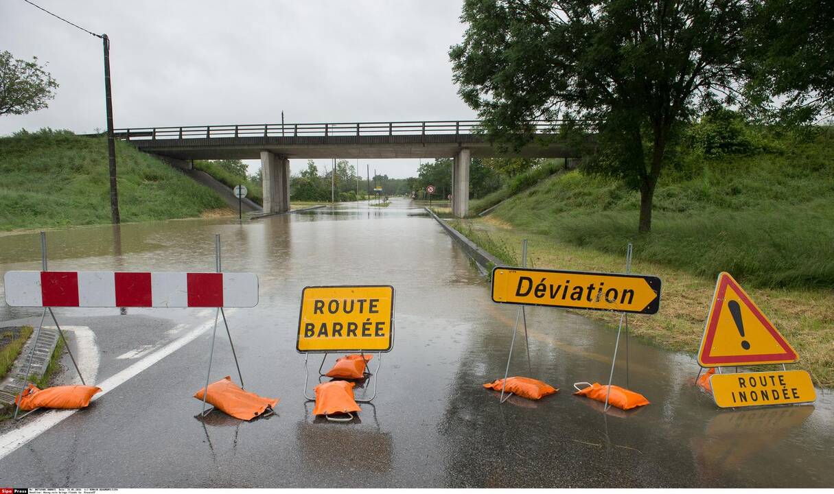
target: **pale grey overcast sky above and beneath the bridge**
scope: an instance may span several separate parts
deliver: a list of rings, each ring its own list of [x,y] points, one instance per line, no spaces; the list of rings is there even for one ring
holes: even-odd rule
[[[475,117],[448,56],[464,31],[458,0],[33,2],[110,37],[115,127],[279,123],[282,110],[288,123]],[[0,50],[48,62],[60,84],[48,109],[0,117],[0,135],[106,127],[101,40],[0,0]],[[417,169],[366,162],[389,177]]]

